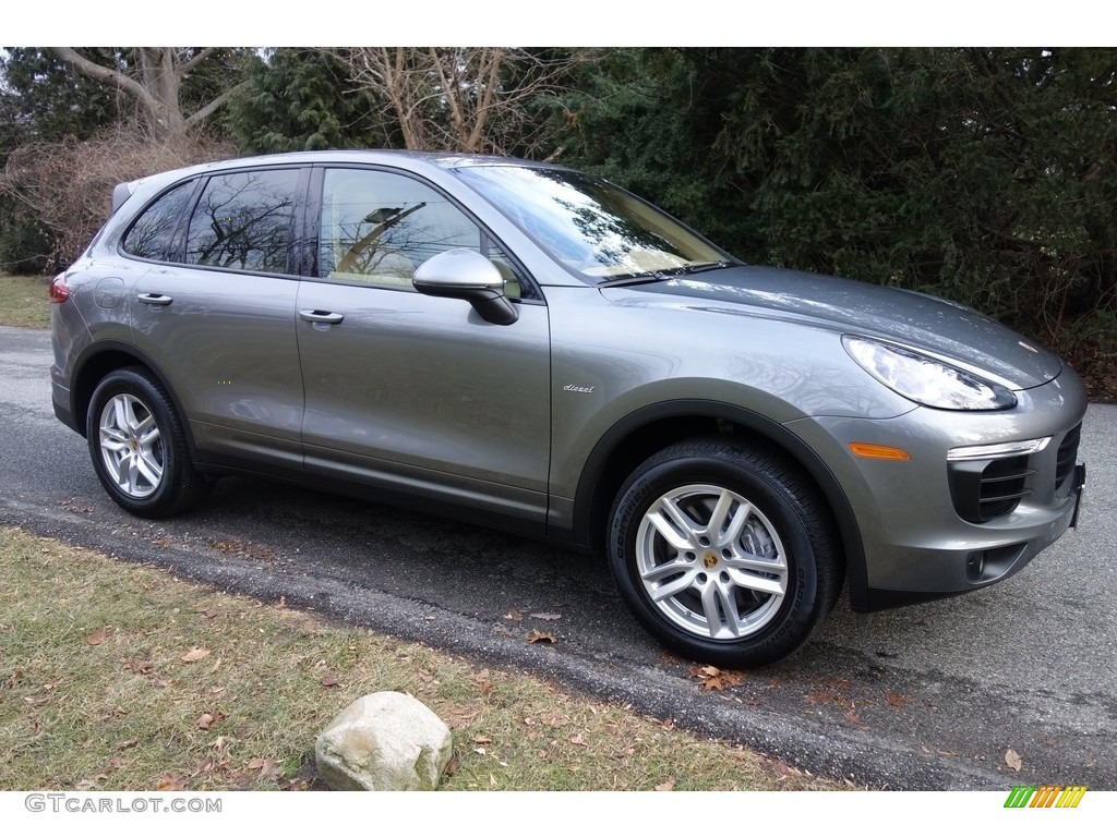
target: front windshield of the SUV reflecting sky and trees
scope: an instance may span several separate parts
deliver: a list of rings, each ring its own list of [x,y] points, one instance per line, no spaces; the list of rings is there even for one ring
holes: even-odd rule
[[[586,279],[685,272],[732,260],[651,204],[579,172],[491,165],[456,173]]]

